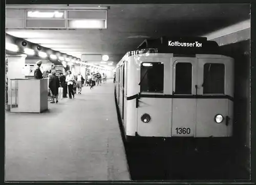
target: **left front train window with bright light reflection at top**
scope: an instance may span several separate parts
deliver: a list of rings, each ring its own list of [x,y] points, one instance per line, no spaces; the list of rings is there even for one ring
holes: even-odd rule
[[[163,92],[162,63],[142,63],[140,71],[140,91],[141,92]]]

